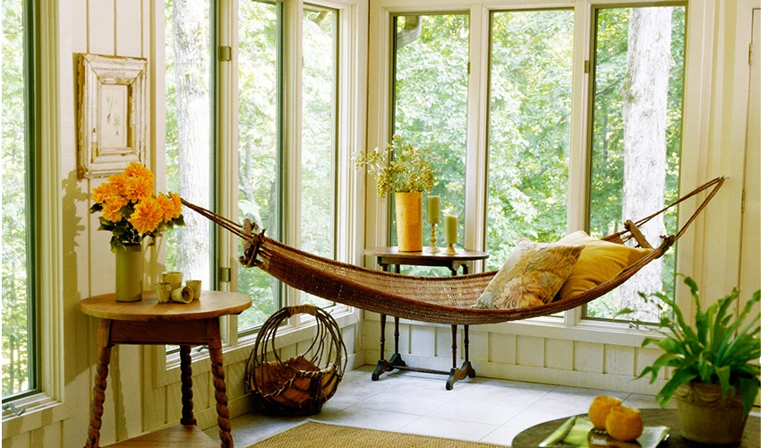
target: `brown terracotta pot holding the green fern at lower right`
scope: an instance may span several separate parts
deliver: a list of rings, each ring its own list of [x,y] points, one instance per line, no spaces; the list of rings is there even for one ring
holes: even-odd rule
[[[745,422],[740,396],[722,398],[718,384],[691,382],[677,389],[680,433],[701,444],[740,444]]]

